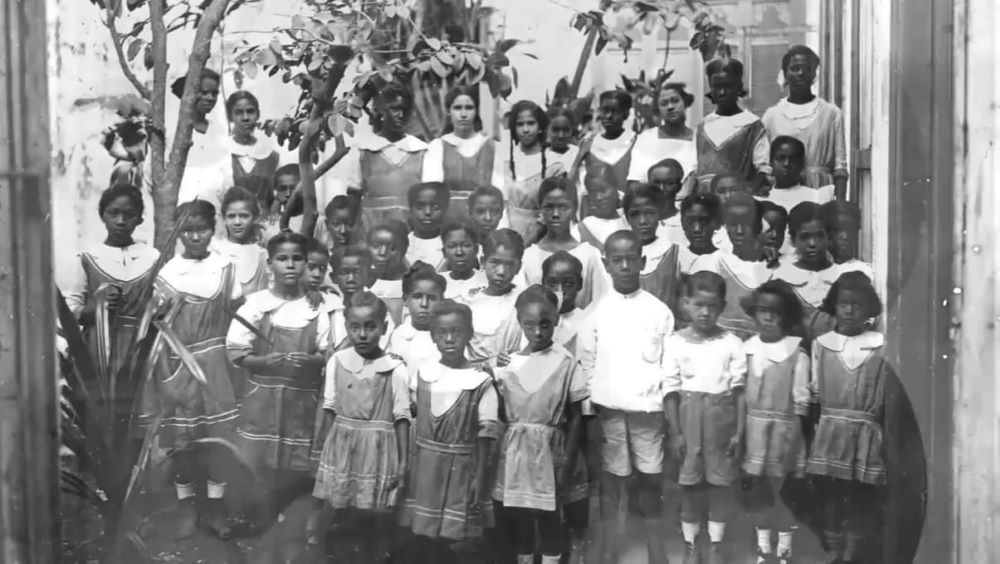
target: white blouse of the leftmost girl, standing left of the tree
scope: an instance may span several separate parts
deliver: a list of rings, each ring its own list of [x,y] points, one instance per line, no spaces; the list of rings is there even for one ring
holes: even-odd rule
[[[65,295],[66,305],[79,314],[87,304],[87,271],[83,268],[83,255],[87,255],[109,277],[131,282],[149,272],[160,253],[146,243],[133,243],[127,247],[112,247],[101,243],[93,245],[78,255],[73,265],[73,278]]]

